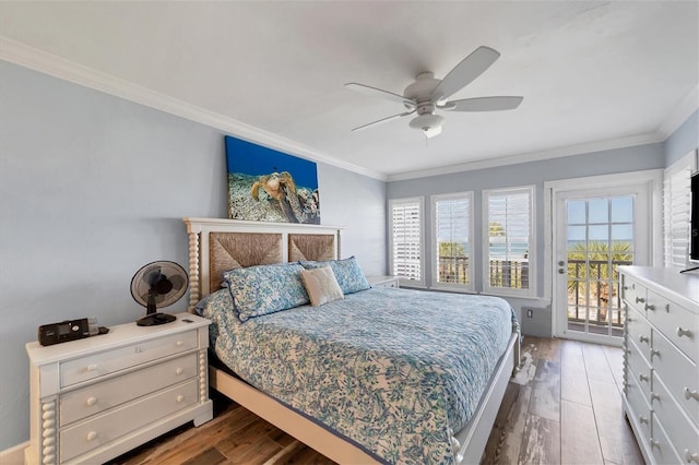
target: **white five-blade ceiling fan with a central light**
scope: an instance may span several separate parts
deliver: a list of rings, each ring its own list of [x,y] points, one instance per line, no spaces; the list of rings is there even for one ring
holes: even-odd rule
[[[512,110],[519,107],[523,97],[497,96],[449,100],[449,97],[490,68],[499,57],[500,53],[498,51],[481,46],[457,64],[442,80],[435,79],[435,74],[431,72],[417,74],[415,82],[405,87],[403,95],[356,82],[346,83],[345,87],[347,88],[403,104],[407,110],[359,126],[354,128],[353,131],[359,131],[395,118],[417,114],[411,120],[410,127],[422,130],[427,138],[434,138],[441,133],[441,127],[445,122],[445,118],[437,115],[436,110],[499,111]]]

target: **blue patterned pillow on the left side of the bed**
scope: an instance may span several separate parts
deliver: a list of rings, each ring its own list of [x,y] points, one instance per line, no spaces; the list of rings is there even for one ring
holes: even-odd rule
[[[223,274],[240,321],[309,302],[297,263],[235,269]]]

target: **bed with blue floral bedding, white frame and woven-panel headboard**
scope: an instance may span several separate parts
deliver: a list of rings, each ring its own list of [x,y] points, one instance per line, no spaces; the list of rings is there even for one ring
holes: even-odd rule
[[[340,259],[336,227],[185,223],[190,311],[213,321],[212,388],[339,463],[479,462],[519,365],[507,302],[369,288]],[[287,291],[329,266],[341,297]]]

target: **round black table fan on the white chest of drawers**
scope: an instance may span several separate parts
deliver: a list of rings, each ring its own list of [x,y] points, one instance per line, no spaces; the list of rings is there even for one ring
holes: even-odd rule
[[[175,317],[158,313],[157,309],[178,301],[187,291],[188,284],[187,272],[175,262],[158,261],[141,267],[131,279],[131,295],[147,310],[137,324],[153,326],[175,321]]]

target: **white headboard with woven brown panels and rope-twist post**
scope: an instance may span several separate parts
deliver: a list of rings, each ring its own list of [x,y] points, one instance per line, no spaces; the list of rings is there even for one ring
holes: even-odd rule
[[[298,260],[334,260],[336,226],[240,219],[183,218],[189,236],[189,307],[221,288],[222,273],[241,266]]]

